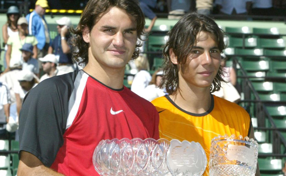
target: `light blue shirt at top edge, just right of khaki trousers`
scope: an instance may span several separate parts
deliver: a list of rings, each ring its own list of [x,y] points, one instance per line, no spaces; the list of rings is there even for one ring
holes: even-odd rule
[[[221,12],[231,15],[233,9],[236,13],[246,13],[246,2],[252,2],[253,0],[216,0],[215,4],[221,5]]]

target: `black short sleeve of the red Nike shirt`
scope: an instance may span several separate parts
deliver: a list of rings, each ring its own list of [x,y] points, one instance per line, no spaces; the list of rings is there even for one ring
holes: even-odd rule
[[[63,145],[68,100],[76,74],[77,71],[46,79],[27,93],[19,114],[19,159],[23,150],[51,166]]]

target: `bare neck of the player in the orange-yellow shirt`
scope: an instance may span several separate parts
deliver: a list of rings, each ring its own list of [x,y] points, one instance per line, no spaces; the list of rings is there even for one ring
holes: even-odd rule
[[[197,87],[184,81],[179,81],[179,87],[170,98],[182,109],[202,114],[211,107],[210,87]]]

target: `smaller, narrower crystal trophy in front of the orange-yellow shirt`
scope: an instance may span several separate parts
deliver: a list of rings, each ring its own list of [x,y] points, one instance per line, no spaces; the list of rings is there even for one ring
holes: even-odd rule
[[[235,135],[218,136],[210,146],[210,176],[254,176],[258,144],[255,140]]]

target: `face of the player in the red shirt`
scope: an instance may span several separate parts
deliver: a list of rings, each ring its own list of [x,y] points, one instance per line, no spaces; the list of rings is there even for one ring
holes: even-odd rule
[[[136,46],[135,18],[125,10],[111,7],[102,14],[84,40],[90,44],[89,64],[122,69],[131,59]]]

